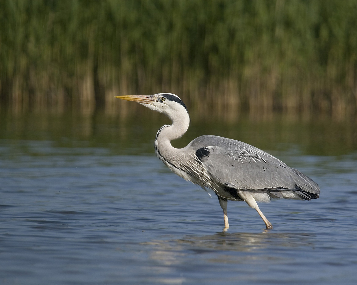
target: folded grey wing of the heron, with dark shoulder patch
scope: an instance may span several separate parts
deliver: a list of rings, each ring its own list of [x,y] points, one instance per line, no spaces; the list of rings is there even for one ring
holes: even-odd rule
[[[290,190],[306,200],[317,198],[320,193],[309,177],[256,147],[216,136],[200,139],[208,139],[206,143],[213,145],[197,149],[198,159],[210,176],[225,187],[266,190],[277,198],[282,197],[279,191]]]

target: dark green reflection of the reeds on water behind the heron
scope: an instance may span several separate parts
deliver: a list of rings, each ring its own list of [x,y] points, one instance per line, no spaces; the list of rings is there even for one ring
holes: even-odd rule
[[[153,153],[157,130],[170,121],[165,115],[140,107],[137,113],[126,116],[0,114],[0,139],[49,140],[60,147],[103,146],[116,154]],[[345,155],[357,150],[356,118],[333,120],[326,116],[273,113],[262,118],[240,113],[233,120],[214,114],[207,117],[191,114],[187,133],[173,144],[183,147],[206,134],[241,140],[267,151],[296,148],[299,154]]]

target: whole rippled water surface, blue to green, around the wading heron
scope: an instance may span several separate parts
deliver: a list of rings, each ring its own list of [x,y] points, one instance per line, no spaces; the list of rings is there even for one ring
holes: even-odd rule
[[[122,120],[0,124],[0,284],[357,283],[354,127],[326,123],[335,131],[321,138],[319,123],[300,130],[277,120],[262,130],[270,139],[258,140],[254,126],[263,122],[239,134],[235,123],[227,131],[193,125],[188,141],[211,126],[210,134],[255,143],[321,188],[313,201],[260,203],[272,230],[245,203],[228,202],[223,232],[215,195],[156,158],[161,119],[127,128]],[[306,139],[314,135],[320,144]]]

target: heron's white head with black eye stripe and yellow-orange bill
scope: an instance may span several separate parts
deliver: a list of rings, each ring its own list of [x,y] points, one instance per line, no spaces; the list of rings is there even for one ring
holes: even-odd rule
[[[172,93],[158,93],[154,95],[127,95],[116,96],[116,98],[128,101],[135,101],[151,110],[164,113],[170,119],[174,120],[179,115],[188,115],[186,105],[175,94]]]

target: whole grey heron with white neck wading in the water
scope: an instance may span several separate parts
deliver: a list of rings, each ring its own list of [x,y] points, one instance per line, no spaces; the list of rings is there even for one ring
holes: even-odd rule
[[[266,228],[272,229],[272,224],[260,211],[257,202],[278,198],[311,200],[319,197],[320,188],[311,178],[245,142],[203,135],[182,149],[173,147],[170,141],[181,138],[190,124],[186,105],[175,94],[116,98],[138,102],[171,119],[172,124],[162,126],[156,134],[156,155],[178,176],[216,193],[223,209],[225,229],[229,227],[228,200],[245,201],[256,209]]]

